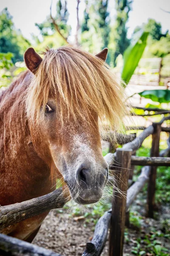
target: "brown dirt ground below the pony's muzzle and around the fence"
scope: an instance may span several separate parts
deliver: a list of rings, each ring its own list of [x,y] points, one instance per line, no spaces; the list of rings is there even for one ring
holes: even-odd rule
[[[137,199],[132,210],[140,211],[144,214],[144,203],[144,201],[142,202]],[[42,223],[40,231],[33,243],[60,253],[62,256],[82,255],[86,242],[93,237],[95,225],[91,222],[87,223],[86,218],[76,221],[74,217],[71,216],[71,208],[69,210],[63,209],[62,213],[59,213],[57,209],[52,210]],[[161,223],[164,219],[170,221],[169,207],[161,207],[156,220],[142,217],[142,227],[140,230],[131,228],[126,230],[124,256],[134,256],[135,254],[131,251],[132,247],[136,246],[136,239],[138,237],[143,239],[146,235],[147,237],[151,237],[154,232],[162,230]],[[152,230],[155,231],[153,232]],[[170,251],[170,240],[168,238],[159,238],[159,243]],[[141,248],[144,246],[144,240],[141,240],[140,246]],[[145,255],[152,256],[153,254],[147,253]],[[108,256],[108,241],[102,252],[102,256]]]

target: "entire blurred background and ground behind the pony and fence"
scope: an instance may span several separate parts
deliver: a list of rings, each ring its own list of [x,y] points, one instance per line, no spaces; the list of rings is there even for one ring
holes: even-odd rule
[[[127,99],[138,107],[132,108],[138,115],[136,126],[147,127],[164,116],[154,115],[156,109],[170,110],[169,31],[170,0],[1,0],[0,88],[5,90],[26,70],[23,54],[28,47],[40,53],[45,47],[72,44],[93,54],[108,47],[106,62],[125,81]],[[167,133],[162,132],[160,149],[167,148],[167,140]],[[151,141],[150,136],[136,155],[149,156]],[[103,155],[109,150],[110,145],[104,143]],[[140,169],[135,168],[133,181]],[[145,187],[130,211],[125,256],[170,256],[169,167],[157,169],[156,186],[161,210],[154,220],[144,217]],[[96,221],[110,207],[108,199],[93,209],[67,205],[51,211],[34,243],[62,255],[81,255]],[[108,255],[107,246],[102,255]]]

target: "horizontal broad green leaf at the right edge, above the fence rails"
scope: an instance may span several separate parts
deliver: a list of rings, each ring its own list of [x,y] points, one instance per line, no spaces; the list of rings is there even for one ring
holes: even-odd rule
[[[138,93],[141,97],[151,99],[154,102],[168,103],[170,102],[170,90],[144,90]]]

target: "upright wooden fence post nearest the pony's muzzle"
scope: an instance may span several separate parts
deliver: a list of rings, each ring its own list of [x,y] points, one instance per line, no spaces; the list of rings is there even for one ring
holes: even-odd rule
[[[113,204],[109,241],[109,256],[123,256],[125,229],[126,192],[130,170],[132,149],[117,148],[115,180],[113,188]],[[119,192],[120,191],[120,192]],[[123,193],[121,195],[121,192]]]

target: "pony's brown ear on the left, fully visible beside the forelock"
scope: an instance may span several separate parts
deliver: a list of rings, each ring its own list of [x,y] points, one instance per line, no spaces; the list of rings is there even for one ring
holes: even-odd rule
[[[35,50],[31,47],[28,48],[28,50],[26,50],[25,54],[24,54],[24,61],[26,63],[26,66],[28,67],[28,69],[32,72],[32,73],[36,73],[36,70],[39,66],[39,64],[42,61],[42,58],[40,57],[40,55],[37,54],[37,52],[35,52]]]

